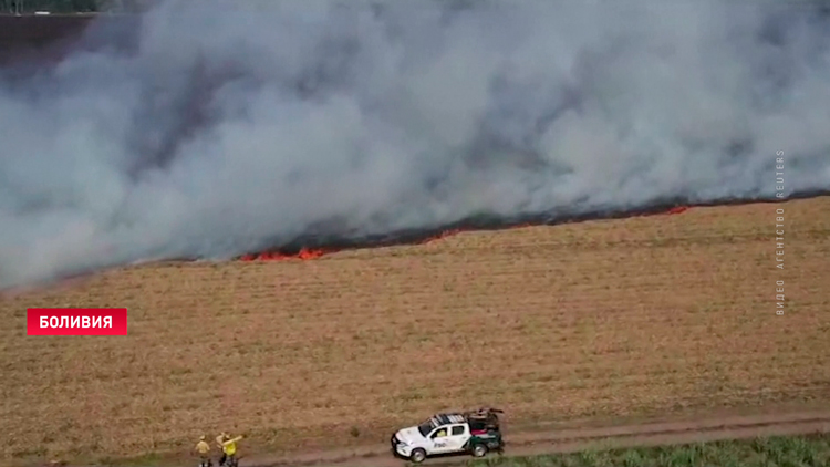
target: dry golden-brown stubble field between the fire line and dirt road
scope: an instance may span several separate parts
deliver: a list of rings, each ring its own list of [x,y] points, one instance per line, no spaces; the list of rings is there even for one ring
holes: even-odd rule
[[[828,402],[829,234],[816,198],[137,267],[7,297],[0,458],[186,450],[220,429],[248,434],[243,453],[374,444],[481,404],[519,430]],[[25,308],[51,305],[128,307],[129,335],[25,336]]]

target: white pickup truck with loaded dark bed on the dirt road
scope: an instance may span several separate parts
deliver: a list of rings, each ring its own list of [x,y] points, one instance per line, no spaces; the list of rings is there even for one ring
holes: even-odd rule
[[[466,413],[435,414],[424,423],[403,428],[390,439],[392,452],[413,463],[442,454],[471,454],[481,457],[505,446],[495,408]]]

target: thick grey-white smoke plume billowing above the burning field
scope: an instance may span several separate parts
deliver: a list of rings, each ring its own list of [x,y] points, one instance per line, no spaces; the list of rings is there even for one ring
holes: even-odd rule
[[[0,287],[772,198],[776,172],[828,189],[829,25],[795,2],[162,2],[134,50],[0,83]]]

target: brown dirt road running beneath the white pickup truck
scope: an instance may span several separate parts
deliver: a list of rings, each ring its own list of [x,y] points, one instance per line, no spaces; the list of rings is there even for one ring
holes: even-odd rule
[[[750,416],[716,417],[686,422],[660,422],[605,426],[595,428],[564,428],[533,433],[505,433],[505,456],[530,456],[571,453],[589,448],[656,446],[719,439],[753,438],[756,436],[830,433],[830,411],[779,413]],[[490,454],[489,456],[494,456]],[[457,465],[470,456],[427,459],[424,465]],[[332,452],[305,453],[282,458],[250,457],[250,467],[401,467],[406,463],[392,456],[387,445],[365,446]]]

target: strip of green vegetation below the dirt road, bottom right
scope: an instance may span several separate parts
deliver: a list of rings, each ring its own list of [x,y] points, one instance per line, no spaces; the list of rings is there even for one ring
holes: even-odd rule
[[[528,457],[498,457],[469,467],[827,467],[830,433],[775,436],[672,446],[585,450]]]

